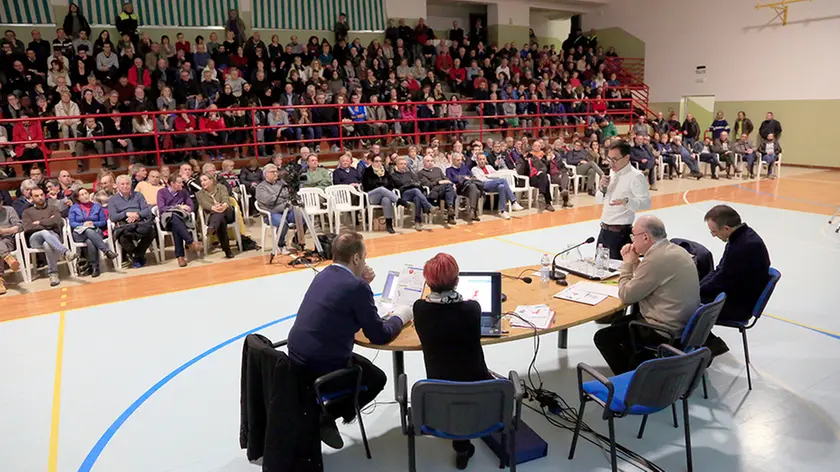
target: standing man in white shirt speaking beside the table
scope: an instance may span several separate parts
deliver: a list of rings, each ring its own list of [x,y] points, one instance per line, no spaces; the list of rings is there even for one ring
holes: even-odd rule
[[[621,259],[621,248],[630,244],[636,212],[650,208],[645,175],[630,165],[630,145],[618,142],[607,151],[610,174],[601,179],[595,200],[603,203],[598,244],[610,250],[610,259]]]

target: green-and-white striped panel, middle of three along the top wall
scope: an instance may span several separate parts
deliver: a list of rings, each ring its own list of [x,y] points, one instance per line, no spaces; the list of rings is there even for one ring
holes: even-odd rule
[[[124,3],[124,0],[82,0],[81,6],[91,24],[112,25]],[[133,0],[131,3],[144,26],[224,26],[228,10],[239,9],[239,0]]]

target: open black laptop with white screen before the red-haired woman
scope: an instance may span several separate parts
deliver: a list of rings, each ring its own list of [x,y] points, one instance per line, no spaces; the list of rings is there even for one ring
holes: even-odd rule
[[[481,305],[481,337],[502,335],[502,274],[500,272],[461,272],[458,293],[464,300]]]

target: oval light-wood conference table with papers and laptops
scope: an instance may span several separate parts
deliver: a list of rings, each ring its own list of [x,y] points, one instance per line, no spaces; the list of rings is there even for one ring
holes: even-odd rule
[[[501,272],[502,274],[516,277],[523,272],[537,270],[538,268],[534,266],[524,266]],[[554,298],[555,294],[566,287],[558,285],[554,281],[543,284],[540,282],[539,277],[536,276],[532,277],[532,279],[532,283],[526,284],[521,280],[502,277],[502,293],[507,296],[507,300],[502,303],[502,313],[512,312],[519,305],[539,305],[544,303],[554,310],[554,321],[551,326],[545,329],[537,329],[536,331],[533,328],[512,327],[507,317],[504,317],[502,319],[502,336],[482,338],[482,345],[517,341],[530,338],[534,335],[542,336],[544,334],[558,332],[557,347],[565,349],[568,342],[569,328],[612,315],[625,308],[619,299],[613,297],[607,297],[606,300],[597,305],[587,305]],[[570,287],[584,280],[572,274],[569,274],[566,278]],[[423,349],[420,345],[420,338],[417,336],[417,331],[414,329],[413,322],[409,322],[403,327],[402,332],[388,344],[373,344],[365,337],[362,331],[356,333],[356,344],[371,349],[391,351],[394,357],[394,379],[397,379],[405,371],[404,353],[406,351],[420,351]]]

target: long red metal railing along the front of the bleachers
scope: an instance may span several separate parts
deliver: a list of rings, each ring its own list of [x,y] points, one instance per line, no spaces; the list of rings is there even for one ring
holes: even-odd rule
[[[625,87],[620,87],[625,88]],[[632,90],[632,89],[631,89]],[[174,153],[191,153],[191,152],[219,152],[219,150],[232,150],[235,148],[239,148],[240,150],[247,150],[252,149],[254,155],[258,155],[259,147],[260,146],[273,146],[274,144],[280,145],[309,145],[309,144],[320,144],[326,141],[327,145],[329,143],[336,143],[339,146],[341,151],[345,149],[351,148],[352,146],[359,143],[361,140],[375,140],[379,139],[382,141],[389,141],[395,138],[403,138],[407,141],[413,141],[415,144],[420,143],[422,140],[430,140],[432,137],[454,137],[454,138],[463,138],[466,134],[477,134],[478,138],[482,141],[484,140],[484,135],[491,132],[500,132],[500,131],[509,131],[513,133],[530,133],[532,135],[551,135],[555,132],[559,133],[564,130],[581,130],[581,127],[586,126],[587,122],[590,120],[589,117],[593,117],[593,119],[597,119],[598,116],[606,116],[609,117],[610,120],[617,121],[617,122],[629,122],[630,116],[632,115],[632,110],[634,107],[638,106],[638,102],[636,102],[635,97],[630,98],[607,98],[607,99],[583,99],[583,100],[558,100],[558,99],[546,99],[546,100],[494,100],[494,101],[475,101],[475,100],[460,100],[460,101],[446,101],[446,102],[434,102],[435,108],[440,106],[450,106],[453,104],[461,105],[462,108],[466,107],[473,107],[475,106],[479,113],[477,115],[462,115],[460,117],[452,117],[452,116],[443,116],[443,117],[433,117],[433,118],[418,118],[417,111],[419,108],[428,106],[430,102],[401,102],[399,103],[399,108],[403,110],[403,112],[408,112],[407,114],[401,113],[399,118],[395,119],[385,119],[385,120],[366,120],[364,122],[348,122],[342,121],[341,114],[343,110],[348,109],[349,107],[354,106],[380,106],[383,108],[388,108],[392,106],[391,103],[360,103],[360,104],[324,104],[324,105],[295,105],[295,106],[281,106],[279,108],[288,110],[300,110],[300,109],[309,109],[310,111],[315,108],[335,108],[336,113],[339,116],[339,121],[327,122],[327,123],[290,123],[288,126],[269,126],[267,124],[267,117],[268,113],[275,108],[278,107],[252,107],[252,108],[225,108],[225,109],[201,109],[201,110],[178,110],[175,112],[171,111],[147,111],[147,112],[134,112],[134,113],[120,113],[120,114],[101,114],[101,115],[80,115],[80,116],[62,116],[60,117],[61,121],[65,120],[80,120],[81,123],[84,122],[85,118],[111,118],[113,116],[120,116],[123,118],[132,118],[136,116],[148,116],[149,119],[152,120],[154,123],[154,127],[151,132],[149,133],[125,133],[125,134],[115,134],[115,135],[104,135],[102,137],[87,137],[87,136],[67,136],[67,137],[45,137],[44,139],[39,139],[35,141],[10,141],[5,143],[0,143],[2,147],[11,147],[15,148],[18,145],[22,144],[37,144],[38,147],[43,151],[46,150],[44,153],[43,159],[36,159],[36,160],[21,160],[20,156],[17,156],[17,160],[7,161],[5,163],[0,163],[0,166],[23,166],[25,164],[38,164],[43,165],[45,169],[46,175],[50,174],[50,167],[51,164],[56,164],[62,161],[83,161],[88,159],[106,159],[106,158],[123,158],[128,156],[148,156],[153,155],[155,156],[155,161],[157,165],[163,165],[164,159],[163,157],[167,154],[174,154]],[[503,105],[505,103],[514,103],[517,105],[525,105],[526,111],[525,113],[513,114],[513,115],[485,115],[482,111],[487,104],[496,104],[496,105]],[[558,105],[563,105],[563,110],[558,109]],[[571,108],[576,109],[570,110]],[[599,115],[594,110],[598,106],[606,106],[606,112],[604,115]],[[536,110],[536,113],[529,112],[528,110]],[[209,133],[208,130],[201,129],[201,125],[198,120],[206,119],[207,113],[218,113],[221,116],[221,119],[224,119],[225,114],[235,113],[235,112],[244,112],[248,116],[250,116],[250,123],[246,126],[237,126],[237,127],[225,127],[223,130],[219,130],[219,132],[224,132],[226,134],[233,133],[233,132],[243,132],[245,136],[250,138],[250,142],[246,142],[246,139],[243,138],[241,141],[237,142],[225,142],[222,139],[220,143],[209,143],[208,139],[199,139],[199,136],[206,138],[206,135]],[[182,113],[187,113],[194,118],[196,118],[196,127],[197,129],[186,131],[161,131],[158,129],[158,120],[156,117],[158,115],[173,115],[177,117]],[[311,113],[310,113],[311,116]],[[514,119],[519,119],[520,125],[514,126],[510,122]],[[0,120],[0,126],[14,126],[20,122],[29,121],[30,126],[43,126],[48,122],[58,121],[54,116],[49,117],[30,117],[30,118],[18,118],[18,119],[11,119],[11,120]],[[473,122],[474,127],[464,127],[464,129],[460,129],[457,125],[452,126],[452,122],[455,120],[463,121],[463,122]],[[527,123],[528,120],[532,120],[530,126],[526,126],[523,123]],[[544,121],[547,121],[549,124],[545,125]],[[395,131],[395,126],[397,123],[401,125],[400,133]],[[438,124],[443,124],[443,126],[437,126]],[[354,130],[352,134],[348,133],[345,126],[358,126],[358,125],[377,125],[377,124],[385,124],[387,125],[387,129],[384,131],[376,131],[369,133],[364,136],[357,136],[356,132],[358,130]],[[402,129],[404,125],[409,125],[411,128],[410,132],[406,132],[405,129]],[[77,127],[75,125],[74,127]],[[173,126],[174,126],[174,119],[173,119]],[[314,137],[314,128],[318,127],[321,128],[322,131],[330,130],[331,132],[335,133],[334,135],[329,135],[325,133],[321,138]],[[282,137],[282,130],[283,129],[301,129],[301,134],[306,135],[301,136],[301,138],[296,139],[285,139]],[[378,127],[377,127],[378,128]],[[264,133],[266,130],[270,129],[277,129],[277,140],[275,141],[266,141],[264,137]],[[312,129],[312,135],[309,134],[309,130]],[[45,131],[46,133],[46,131]],[[182,146],[174,146],[172,148],[164,149],[161,145],[163,142],[163,138],[172,137],[173,140],[176,137],[185,137],[186,135],[198,135],[197,141],[199,144],[197,146],[188,147],[186,145]],[[9,133],[9,136],[13,136],[13,133]],[[262,137],[261,137],[262,136]],[[312,137],[309,137],[312,136]],[[84,142],[96,142],[100,141],[108,141],[108,140],[117,140],[117,139],[132,139],[136,140],[138,138],[143,137],[151,137],[154,140],[154,147],[149,149],[135,149],[132,152],[113,152],[113,153],[96,153],[96,154],[88,154],[88,155],[65,155],[60,156],[60,153],[56,153],[54,150],[47,150],[48,147],[52,147],[52,145],[57,145],[59,147],[62,146],[62,143],[75,143],[79,141]],[[71,146],[72,149],[72,146]],[[271,150],[267,152],[270,154]]]

